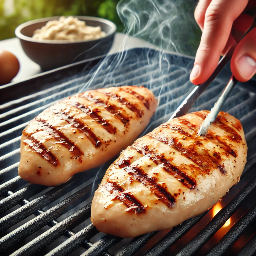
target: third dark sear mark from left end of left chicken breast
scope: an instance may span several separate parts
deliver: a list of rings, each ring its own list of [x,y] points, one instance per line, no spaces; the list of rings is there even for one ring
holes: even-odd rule
[[[101,146],[101,140],[98,138],[92,131],[90,127],[84,126],[82,122],[80,122],[78,119],[74,118],[70,115],[70,113],[65,112],[63,110],[56,110],[56,109],[50,109],[52,113],[59,116],[60,118],[66,120],[69,124],[71,124],[73,127],[75,127],[79,132],[86,135],[87,138],[91,141],[91,143],[95,147]]]

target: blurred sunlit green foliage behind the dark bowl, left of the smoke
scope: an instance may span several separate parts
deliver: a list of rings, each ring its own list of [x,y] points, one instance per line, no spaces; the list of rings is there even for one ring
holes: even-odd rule
[[[118,0],[0,0],[0,40],[15,37],[14,30],[28,20],[86,15],[113,21],[118,31],[123,25],[116,12]]]

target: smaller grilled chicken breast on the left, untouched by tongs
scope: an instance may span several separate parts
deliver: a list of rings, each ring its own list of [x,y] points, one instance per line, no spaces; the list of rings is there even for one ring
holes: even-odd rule
[[[153,93],[136,86],[86,91],[33,119],[20,145],[20,177],[55,186],[100,166],[131,145],[156,109]]]

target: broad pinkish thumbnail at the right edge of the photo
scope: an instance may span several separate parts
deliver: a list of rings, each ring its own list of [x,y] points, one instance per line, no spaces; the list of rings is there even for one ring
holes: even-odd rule
[[[247,56],[241,56],[237,61],[237,68],[244,79],[250,79],[256,71],[256,61]]]

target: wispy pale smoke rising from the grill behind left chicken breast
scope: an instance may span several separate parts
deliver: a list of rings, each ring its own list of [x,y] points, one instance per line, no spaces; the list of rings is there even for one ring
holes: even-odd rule
[[[123,63],[131,58],[130,54],[127,55],[131,36],[144,40],[144,47],[158,50],[148,56],[147,62],[141,64],[148,65],[146,71],[152,71],[152,67],[155,66],[161,72],[162,65],[166,62],[169,67],[172,64],[177,65],[166,59],[166,52],[194,56],[201,33],[194,20],[195,6],[195,0],[121,0],[117,5],[117,12],[124,24],[126,36],[114,57],[107,56],[92,69],[91,79],[84,84],[81,92],[110,84],[117,85],[115,74],[122,73]],[[138,61],[139,57],[137,56]],[[99,84],[103,70],[104,78]]]

